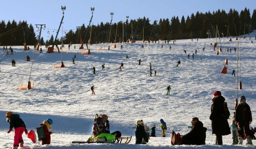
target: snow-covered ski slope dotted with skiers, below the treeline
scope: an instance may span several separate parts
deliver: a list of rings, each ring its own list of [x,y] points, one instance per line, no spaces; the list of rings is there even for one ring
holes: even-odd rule
[[[238,98],[244,95],[246,102],[251,106],[252,127],[256,127],[256,50],[254,40],[256,31],[246,35],[241,41],[241,81],[242,90],[238,90]],[[249,39],[249,37],[252,39]],[[213,51],[214,39],[176,40],[173,44],[142,43],[117,44],[116,49],[95,50],[99,46],[108,44],[94,44],[91,46],[91,55],[81,55],[80,44],[71,46],[68,53],[63,53],[65,68],[54,69],[54,64],[60,64],[61,53],[43,53],[36,51],[30,81],[34,83],[32,90],[18,90],[18,85],[27,83],[34,54],[33,46],[30,51],[23,51],[23,46],[12,46],[14,55],[5,56],[0,47],[0,148],[11,149],[14,133],[7,134],[9,123],[5,113],[12,111],[20,114],[27,129],[35,129],[45,119],[53,119],[51,145],[33,144],[23,134],[24,149],[167,149],[171,146],[171,130],[187,133],[192,117],[198,117],[207,128],[206,145],[181,145],[178,148],[234,148],[242,146],[231,145],[231,135],[223,136],[222,146],[215,144],[215,135],[212,135],[209,119],[212,94],[220,90],[228,103],[231,117],[236,98],[236,77],[231,76],[236,70],[237,41],[223,38],[220,55]],[[253,44],[251,44],[253,41]],[[113,45],[113,44],[110,44]],[[171,45],[171,50],[169,46]],[[218,48],[220,42],[218,39]],[[67,50],[65,45],[64,50]],[[202,51],[205,47],[205,51]],[[9,49],[9,46],[8,46]],[[197,49],[197,54],[195,50]],[[187,54],[183,51],[186,50]],[[11,52],[10,52],[11,53]],[[75,63],[72,57],[76,53]],[[190,59],[187,59],[188,53]],[[194,60],[192,53],[195,54]],[[129,59],[126,60],[125,56]],[[30,62],[26,56],[30,56]],[[224,59],[228,59],[228,74],[221,74]],[[199,60],[199,59],[202,60]],[[11,60],[16,60],[16,67],[11,67]],[[137,60],[141,59],[141,65]],[[180,66],[176,67],[178,60]],[[119,71],[121,62],[123,71]],[[152,76],[149,76],[149,63],[152,64]],[[101,65],[105,64],[105,69]],[[92,74],[92,67],[96,74]],[[236,70],[237,71],[237,70]],[[238,71],[239,72],[239,71]],[[239,77],[238,77],[239,82]],[[91,93],[91,86],[95,87],[95,95]],[[171,85],[171,94],[166,95],[166,88]],[[86,141],[91,134],[95,114],[107,114],[110,121],[110,130],[119,130],[123,136],[132,135],[130,144],[71,144],[72,141]],[[148,145],[135,145],[135,134],[132,127],[137,120],[142,119],[151,128],[159,126],[160,119],[167,123],[166,138],[162,138],[161,129],[156,128],[156,136],[151,137]],[[228,120],[229,123],[231,119]],[[255,140],[252,140],[256,144]],[[244,147],[244,146],[243,146]],[[255,148],[248,145],[246,147]]]

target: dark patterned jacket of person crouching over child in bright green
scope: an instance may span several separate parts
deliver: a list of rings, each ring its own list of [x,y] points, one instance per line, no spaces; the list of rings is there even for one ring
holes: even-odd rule
[[[101,117],[98,117],[92,126],[92,136],[95,138],[101,133],[110,133],[110,131],[106,130],[106,128],[105,122],[102,121]]]

